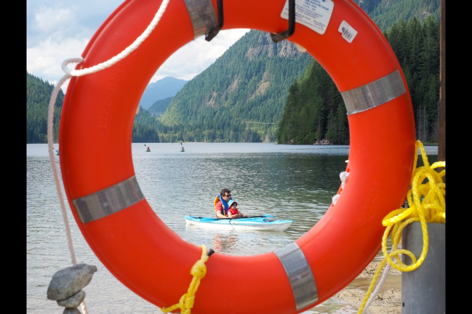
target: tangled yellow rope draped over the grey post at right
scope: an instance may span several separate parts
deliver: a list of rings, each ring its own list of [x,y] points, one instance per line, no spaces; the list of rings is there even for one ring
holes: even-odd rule
[[[382,253],[384,258],[382,262],[380,262],[374,278],[372,278],[372,282],[370,283],[364,296],[364,300],[357,312],[358,314],[363,312],[385,263],[388,262],[392,267],[400,271],[412,271],[418,268],[428,253],[429,242],[426,223],[446,223],[446,184],[443,183],[442,180],[446,175],[446,162],[438,161],[430,166],[428,157],[426,156],[426,151],[421,141],[416,141],[415,144],[412,183],[411,189],[407,194],[409,208],[395,209],[383,218],[382,225],[386,227],[382,236]],[[423,166],[416,168],[418,149],[421,152]],[[438,172],[435,170],[437,168],[444,169]],[[420,222],[423,234],[423,250],[418,259],[416,259],[411,251],[397,249],[400,244],[403,228],[414,221]],[[390,231],[392,250],[390,253],[387,253],[387,237],[390,234]],[[408,255],[413,261],[412,264],[407,265],[403,263],[400,257],[401,254]],[[392,258],[395,258],[395,261],[393,261]]]

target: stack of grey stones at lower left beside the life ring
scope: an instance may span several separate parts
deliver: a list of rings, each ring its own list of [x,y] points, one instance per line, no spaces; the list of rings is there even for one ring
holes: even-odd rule
[[[81,314],[77,307],[85,299],[82,288],[89,284],[96,271],[96,266],[87,264],[77,264],[59,270],[49,284],[48,299],[55,300],[65,307],[62,314]]]

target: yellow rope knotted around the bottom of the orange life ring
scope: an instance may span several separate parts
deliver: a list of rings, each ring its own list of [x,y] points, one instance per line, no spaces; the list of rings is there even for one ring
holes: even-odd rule
[[[202,257],[190,270],[190,274],[193,278],[187,289],[187,293],[184,293],[180,297],[178,303],[167,308],[162,308],[162,312],[167,313],[180,309],[181,314],[190,314],[190,311],[193,308],[193,303],[195,302],[195,293],[197,292],[198,286],[200,286],[200,281],[207,274],[207,266],[205,265],[205,262],[207,262],[209,257],[207,254],[207,247],[205,245],[200,245],[200,247],[202,248]]]

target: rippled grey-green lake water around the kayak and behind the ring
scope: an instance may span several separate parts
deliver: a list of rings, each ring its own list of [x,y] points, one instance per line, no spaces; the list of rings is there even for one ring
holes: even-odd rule
[[[340,186],[339,173],[346,169],[349,156],[349,146],[336,145],[183,145],[185,152],[180,152],[180,143],[133,143],[139,186],[151,208],[177,235],[229,255],[275,251],[304,235],[331,204]],[[146,152],[147,146],[150,152]],[[60,151],[58,144],[54,147]],[[438,147],[425,149],[430,163],[437,161]],[[55,156],[58,169],[59,157]],[[52,276],[72,262],[47,144],[27,144],[26,160],[27,313],[61,314],[64,308],[47,299],[47,288]],[[184,215],[214,216],[213,200],[224,187],[232,191],[238,209],[245,214],[270,213],[277,219],[295,222],[283,232],[186,227]],[[77,262],[98,269],[84,288],[89,314],[160,313],[155,305],[121,284],[94,255],[70,213],[62,186],[61,189]],[[261,198],[270,200],[268,208],[261,206]],[[329,311],[329,304],[334,308],[336,302],[330,299],[324,305]]]

